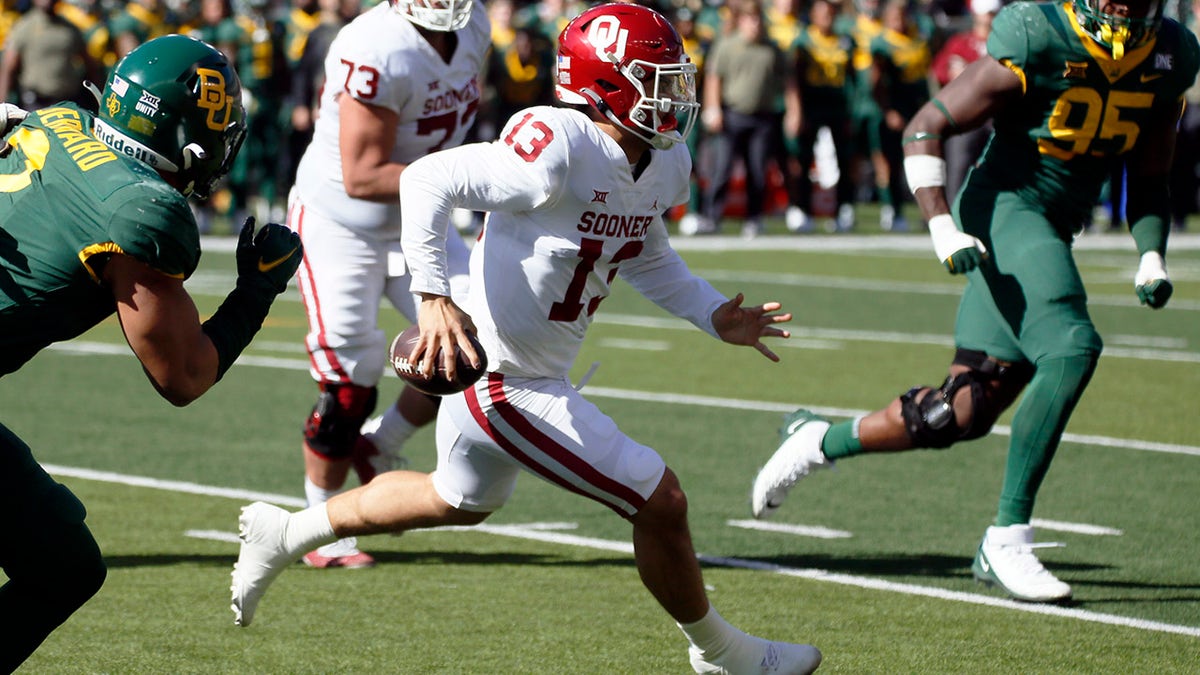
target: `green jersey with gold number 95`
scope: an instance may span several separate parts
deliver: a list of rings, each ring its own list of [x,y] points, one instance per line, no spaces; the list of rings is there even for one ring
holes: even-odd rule
[[[1177,104],[1200,64],[1195,36],[1170,19],[1114,59],[1069,2],[1006,6],[988,53],[1021,78],[1025,104],[995,119],[976,178],[1015,191],[1068,228],[1086,222],[1112,162],[1136,145],[1152,112]]]

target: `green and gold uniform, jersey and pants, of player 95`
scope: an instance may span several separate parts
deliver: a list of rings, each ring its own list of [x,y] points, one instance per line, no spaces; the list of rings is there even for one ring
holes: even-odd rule
[[[1102,340],[1072,257],[1110,161],[1139,142],[1154,113],[1174,109],[1200,67],[1196,38],[1164,19],[1120,60],[1080,28],[1070,5],[1016,2],[992,23],[988,53],[1024,83],[954,205],[960,227],[988,247],[968,273],[955,342],[1034,375],[1013,418],[997,525],[1028,522],[1038,486],[1087,387]],[[1165,177],[1164,177],[1165,181]],[[1162,214],[1132,222],[1138,228]],[[1165,232],[1157,247],[1165,249]],[[1147,247],[1139,240],[1139,249]],[[1162,251],[1159,251],[1162,252]]]

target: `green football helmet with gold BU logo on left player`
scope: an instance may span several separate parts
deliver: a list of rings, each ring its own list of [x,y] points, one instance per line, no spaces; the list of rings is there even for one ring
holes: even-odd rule
[[[204,199],[246,136],[241,80],[211,44],[184,35],[142,43],[104,85],[96,138]]]

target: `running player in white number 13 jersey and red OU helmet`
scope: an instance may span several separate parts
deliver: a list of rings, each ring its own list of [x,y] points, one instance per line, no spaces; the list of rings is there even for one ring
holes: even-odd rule
[[[523,470],[629,520],[642,581],[688,638],[697,673],[811,673],[821,663],[811,645],[749,635],[709,605],[674,473],[568,381],[617,274],[714,338],[779,360],[762,339],[788,336],[775,324],[791,315],[724,297],[667,239],[662,214],[688,199],[682,141],[696,118],[696,67],[674,28],[637,5],[584,11],[558,49],[558,97],[577,108],[528,108],[496,142],[432,154],[401,177],[402,239],[422,298],[413,353],[425,372],[438,347],[458,345],[478,363],[467,338],[478,329],[490,364],[474,387],[445,396],[437,470],[382,473],[295,514],[263,502],[242,509],[235,621],[250,623],[306,546],[481,522]],[[452,207],[490,211],[472,252],[469,313],[451,299]]]

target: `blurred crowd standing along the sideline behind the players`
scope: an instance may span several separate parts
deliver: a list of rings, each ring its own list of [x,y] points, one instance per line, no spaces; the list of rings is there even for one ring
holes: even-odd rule
[[[295,165],[319,110],[329,43],[378,0],[0,0],[0,98],[95,108],[90,80],[140,42],[180,32],[226,52],[245,89],[250,133],[224,186],[197,205],[202,231],[245,215],[281,222]],[[386,0],[384,0],[386,1]],[[923,223],[900,171],[900,131],[917,108],[984,53],[1003,0],[659,0],[700,68],[701,124],[684,235],[755,237],[782,216],[791,232],[905,231]],[[516,110],[552,104],[557,36],[587,7],[571,0],[488,0],[492,54],[474,141]],[[1166,0],[1198,30],[1200,0]],[[1172,175],[1176,228],[1198,210],[1200,90],[1187,94]],[[986,130],[947,147],[950,189]],[[1121,228],[1123,168],[1112,167],[1090,228]],[[871,204],[871,208],[862,208]],[[865,217],[865,214],[871,217]],[[469,226],[469,223],[461,223]]]

